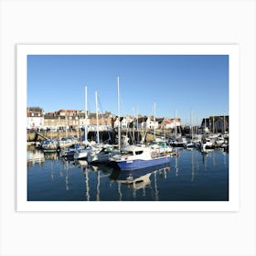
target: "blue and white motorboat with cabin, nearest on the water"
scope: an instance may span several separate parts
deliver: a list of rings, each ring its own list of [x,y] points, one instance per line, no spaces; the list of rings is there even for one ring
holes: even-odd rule
[[[113,155],[112,161],[121,170],[135,170],[168,163],[170,155],[163,154],[147,146],[128,145],[123,147],[121,154]]]

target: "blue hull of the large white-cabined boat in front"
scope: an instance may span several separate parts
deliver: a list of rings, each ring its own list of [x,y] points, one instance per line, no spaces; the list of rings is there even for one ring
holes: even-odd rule
[[[141,160],[141,159],[135,159],[135,160],[123,160],[123,161],[117,161],[116,164],[119,166],[119,168],[123,171],[131,171],[131,170],[137,170],[137,169],[143,169],[150,166],[155,165],[163,165],[170,162],[170,156],[163,156],[163,157],[157,157],[150,160]]]

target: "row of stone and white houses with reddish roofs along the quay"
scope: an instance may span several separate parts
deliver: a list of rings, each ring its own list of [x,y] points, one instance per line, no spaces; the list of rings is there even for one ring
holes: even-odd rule
[[[56,130],[78,130],[87,125],[89,130],[106,131],[118,128],[119,119],[111,112],[98,113],[87,112],[87,118],[84,111],[59,110],[58,112],[44,113],[42,109],[27,108],[27,129],[49,129]],[[120,117],[120,126],[122,129],[173,129],[181,125],[179,118],[154,118],[153,116],[142,116],[133,118],[132,116]]]

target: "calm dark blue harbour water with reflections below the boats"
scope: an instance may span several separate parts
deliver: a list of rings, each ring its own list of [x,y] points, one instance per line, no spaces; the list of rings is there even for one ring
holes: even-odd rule
[[[127,184],[127,177],[133,183]],[[229,154],[179,150],[168,165],[130,174],[113,166],[27,151],[29,201],[227,201]]]

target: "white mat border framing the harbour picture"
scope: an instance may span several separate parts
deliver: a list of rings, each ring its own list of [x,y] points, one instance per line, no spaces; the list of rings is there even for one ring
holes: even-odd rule
[[[238,45],[17,45],[17,211],[239,211],[240,57]],[[27,201],[27,55],[229,55],[229,201],[227,202],[31,202]],[[236,140],[236,144],[234,141]]]

